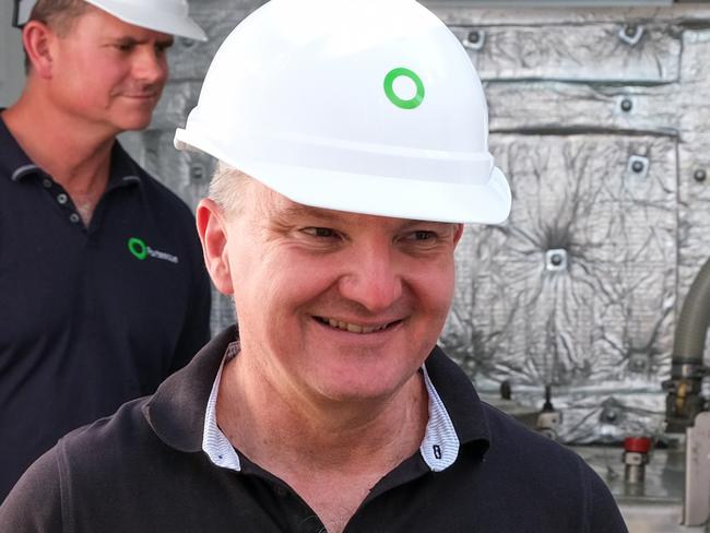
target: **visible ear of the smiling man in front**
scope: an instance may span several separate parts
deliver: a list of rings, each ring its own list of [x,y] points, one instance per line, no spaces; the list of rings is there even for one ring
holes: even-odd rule
[[[204,264],[214,286],[222,294],[234,294],[227,253],[227,227],[222,208],[209,198],[203,199],[198,205],[196,218],[202,242]]]

